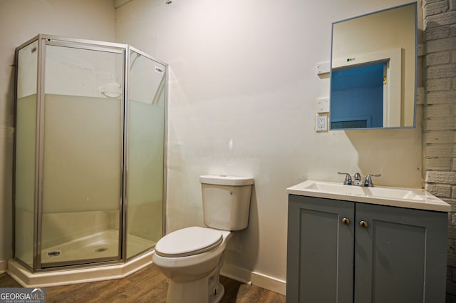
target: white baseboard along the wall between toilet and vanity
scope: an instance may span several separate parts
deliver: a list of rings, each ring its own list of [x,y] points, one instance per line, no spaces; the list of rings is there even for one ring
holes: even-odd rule
[[[222,269],[220,269],[220,274],[242,283],[257,285],[261,288],[271,290],[272,292],[278,292],[279,294],[284,295],[286,293],[286,281],[269,277],[266,274],[250,272],[247,269],[226,263],[222,266]]]

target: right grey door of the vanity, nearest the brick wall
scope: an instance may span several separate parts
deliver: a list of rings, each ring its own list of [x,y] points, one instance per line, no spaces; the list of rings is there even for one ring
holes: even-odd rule
[[[354,223],[355,303],[445,302],[445,212],[356,203]]]

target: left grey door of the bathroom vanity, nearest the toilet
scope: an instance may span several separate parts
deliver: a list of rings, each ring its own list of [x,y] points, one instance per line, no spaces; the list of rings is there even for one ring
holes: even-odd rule
[[[353,202],[289,195],[286,302],[353,302],[353,219]]]

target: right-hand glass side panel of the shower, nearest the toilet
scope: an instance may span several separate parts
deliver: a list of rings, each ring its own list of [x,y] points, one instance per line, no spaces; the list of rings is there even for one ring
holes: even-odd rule
[[[130,51],[128,78],[127,257],[162,237],[165,66]]]

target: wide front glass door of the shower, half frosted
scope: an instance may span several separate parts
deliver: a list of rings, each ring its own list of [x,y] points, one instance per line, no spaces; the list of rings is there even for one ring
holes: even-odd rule
[[[36,264],[118,261],[123,49],[51,40],[43,48]]]

